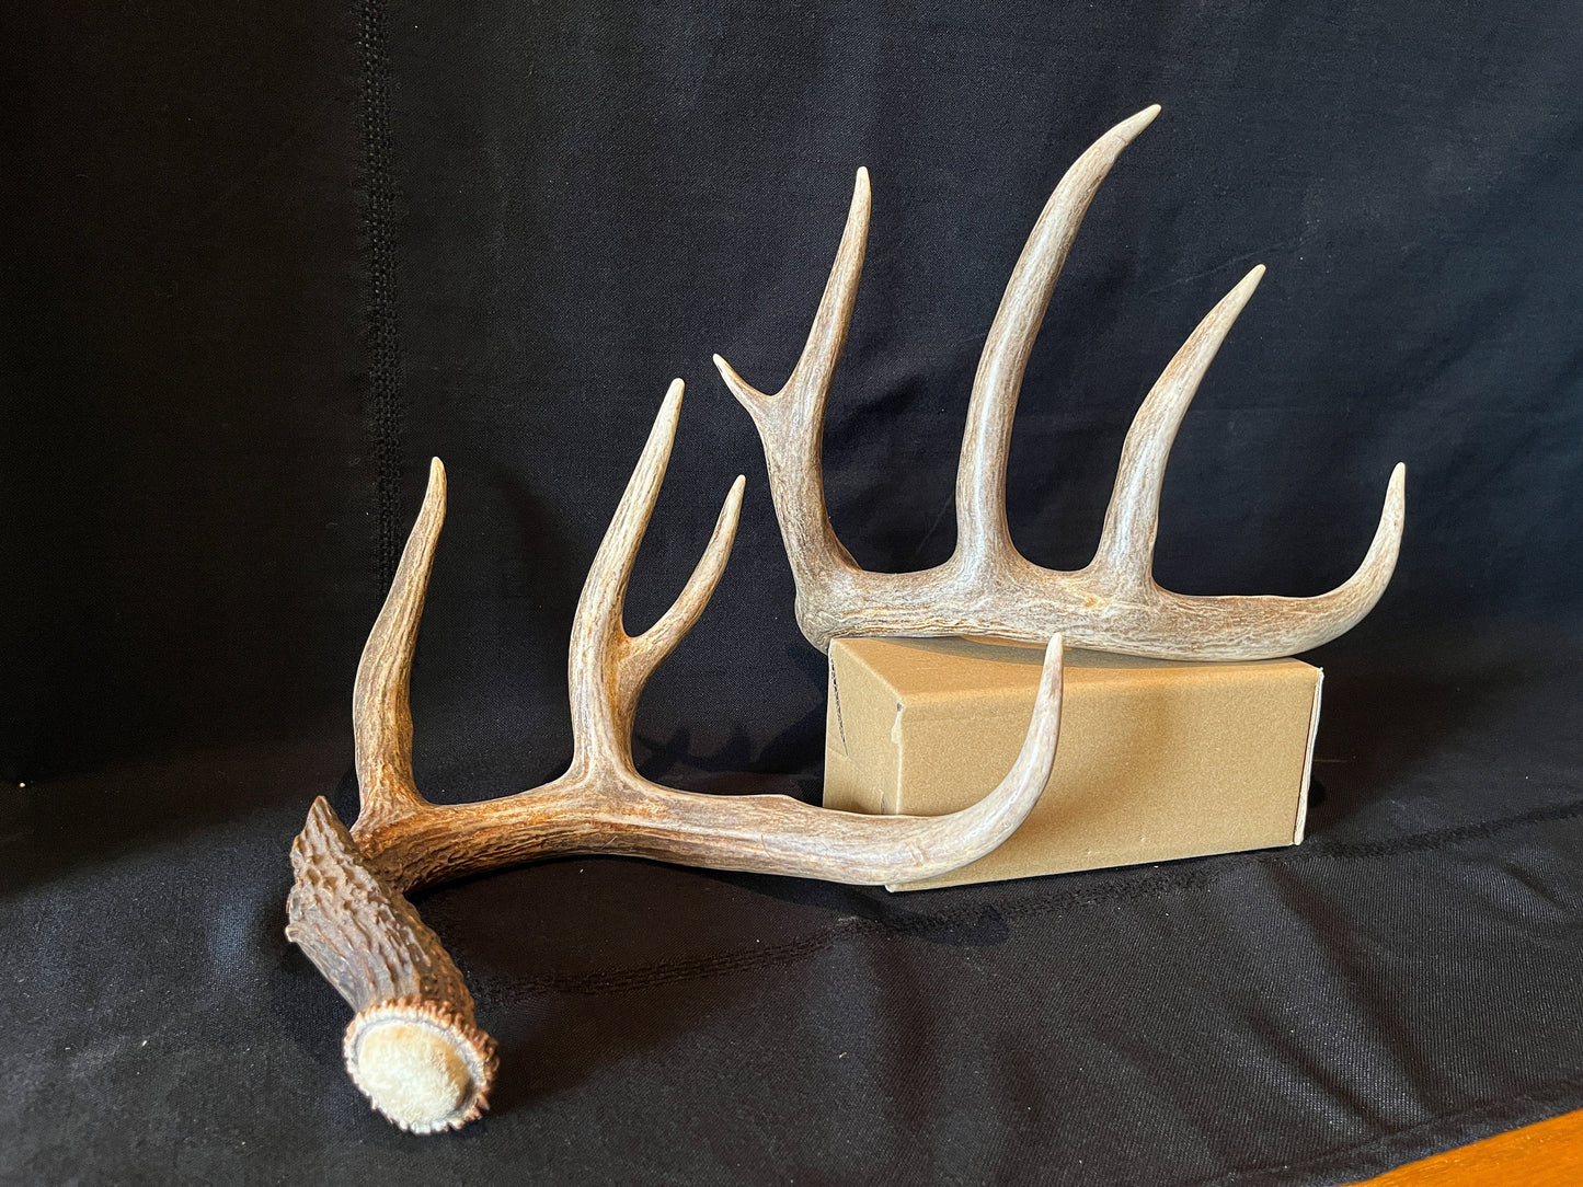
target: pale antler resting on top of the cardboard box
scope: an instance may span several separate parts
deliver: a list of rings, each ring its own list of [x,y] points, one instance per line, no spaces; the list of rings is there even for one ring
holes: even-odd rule
[[[1363,565],[1312,598],[1184,597],[1152,578],[1160,484],[1176,427],[1263,266],[1198,324],[1149,391],[1127,432],[1099,551],[1086,568],[1034,565],[1012,543],[1005,519],[1005,459],[1016,397],[1056,277],[1099,184],[1121,150],[1159,114],[1148,108],[1095,141],[1061,179],[1023,248],[978,361],[956,473],[956,551],[937,568],[869,573],[829,525],[820,448],[825,399],[841,356],[869,223],[869,177],[858,169],[847,229],[807,345],[774,396],[749,386],[719,355],[725,385],[752,415],[765,445],[769,489],[796,578],[803,633],[828,649],[841,635],[999,635],[1048,639],[1130,655],[1255,660],[1317,647],[1372,609],[1396,565],[1406,468],[1396,465],[1385,510]]]

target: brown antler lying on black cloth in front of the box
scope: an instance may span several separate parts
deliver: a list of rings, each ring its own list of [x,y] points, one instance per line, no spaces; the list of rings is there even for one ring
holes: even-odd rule
[[[714,869],[847,883],[926,878],[983,856],[1016,831],[1050,780],[1061,722],[1061,639],[1023,750],[1000,785],[947,817],[867,817],[787,796],[712,796],[651,783],[632,761],[638,695],[703,612],[736,532],[742,478],[676,603],[643,635],[622,628],[638,544],[665,478],[682,385],[671,385],[600,544],[571,627],[573,757],[551,783],[505,799],[431,804],[413,783],[407,688],[418,619],[445,518],[435,461],[423,511],[353,695],[361,813],[348,832],[320,798],[291,847],[287,935],[358,1011],[347,1029],[351,1079],[402,1128],[434,1133],[476,1117],[494,1043],[438,937],[407,891],[535,858],[619,853]]]

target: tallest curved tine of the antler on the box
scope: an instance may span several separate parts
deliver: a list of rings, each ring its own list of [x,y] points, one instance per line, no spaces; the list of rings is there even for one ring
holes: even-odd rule
[[[1019,560],[1005,521],[1005,459],[1027,358],[1100,182],[1159,114],[1157,103],[1145,108],[1078,157],[1050,195],[1007,282],[974,377],[956,470],[956,563],[967,571],[988,573]]]

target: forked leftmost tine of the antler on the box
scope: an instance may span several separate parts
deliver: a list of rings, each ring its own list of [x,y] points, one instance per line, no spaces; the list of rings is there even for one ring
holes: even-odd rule
[[[825,506],[825,402],[852,324],[869,234],[869,171],[858,169],[847,226],[807,343],[777,394],[766,396],[738,375],[730,362],[714,356],[720,378],[747,408],[763,442],[769,494],[799,592],[818,589],[836,573],[856,570],[852,554],[836,538]]]

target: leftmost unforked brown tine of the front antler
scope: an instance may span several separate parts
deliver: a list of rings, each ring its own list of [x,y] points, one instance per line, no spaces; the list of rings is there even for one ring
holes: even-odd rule
[[[412,777],[412,654],[418,643],[423,600],[429,589],[434,549],[445,524],[445,467],[429,464],[429,489],[418,522],[407,537],[396,579],[363,646],[351,693],[356,739],[361,829],[405,815],[424,804]]]

